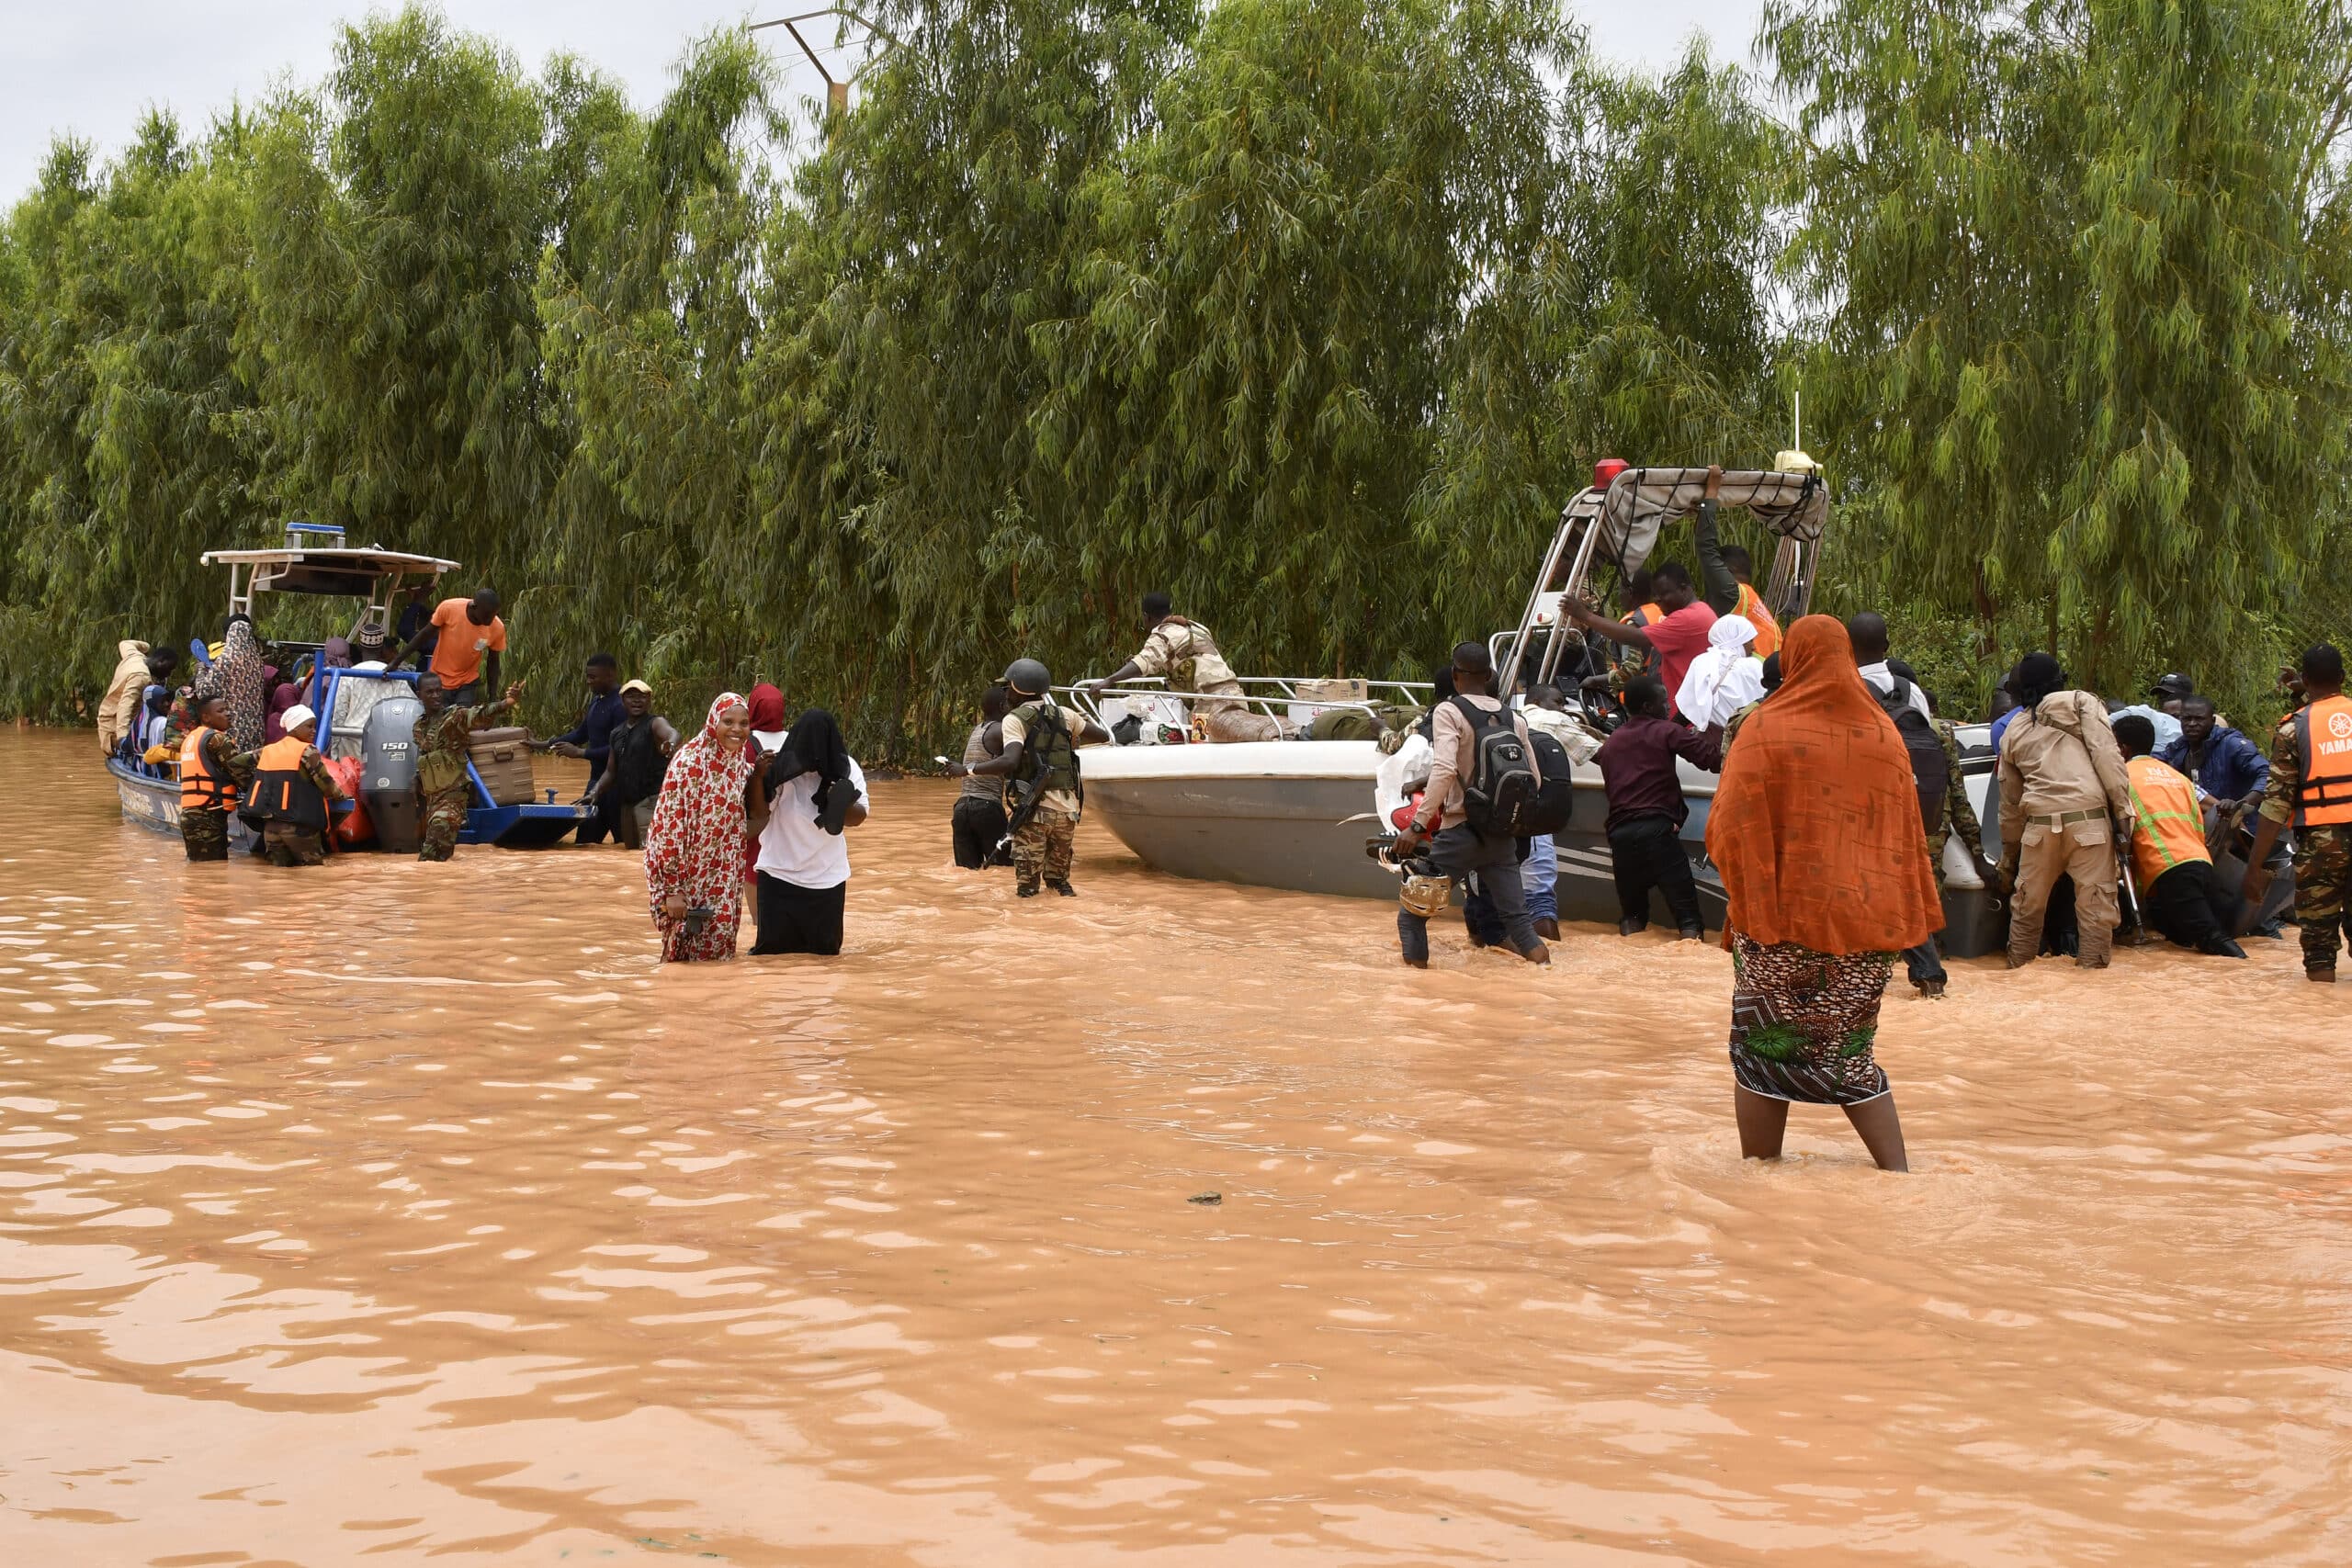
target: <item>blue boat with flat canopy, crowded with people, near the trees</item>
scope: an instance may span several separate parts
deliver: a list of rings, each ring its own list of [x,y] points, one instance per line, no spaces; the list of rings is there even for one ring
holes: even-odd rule
[[[207,550],[205,567],[228,567],[228,614],[252,616],[254,604],[273,592],[306,597],[360,599],[360,616],[350,625],[350,642],[388,642],[393,630],[393,602],[412,583],[433,585],[456,562],[435,555],[409,555],[381,545],[353,548],[343,543],[343,529],[320,522],[287,522],[285,543],[254,550]],[[320,654],[322,644],[270,639],[280,651]],[[416,849],[416,797],[414,759],[409,757],[409,731],[416,703],[416,672],[386,670],[383,665],[355,665],[325,670],[313,658],[310,677],[301,693],[303,705],[320,715],[318,750],[322,757],[362,759],[362,799],[369,818],[383,825],[376,846],[393,851]],[[393,703],[393,708],[386,708]],[[374,724],[376,710],[386,708]],[[153,832],[179,837],[179,764],[148,764],[108,757],[106,771],[115,780],[122,802],[122,820]],[[539,849],[555,844],[579,825],[574,806],[557,806],[555,790],[546,802],[499,802],[482,783],[482,773],[468,762],[468,785],[473,804],[466,811],[466,827],[459,844],[499,844],[503,849]],[[348,811],[348,806],[343,806]],[[228,818],[230,849],[249,849],[254,830],[238,816]]]

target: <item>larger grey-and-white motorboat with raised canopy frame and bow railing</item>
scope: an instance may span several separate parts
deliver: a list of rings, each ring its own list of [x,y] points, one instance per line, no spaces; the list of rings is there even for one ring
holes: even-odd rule
[[[1828,487],[1802,454],[1783,454],[1778,470],[1731,470],[1722,475],[1722,505],[1745,508],[1780,545],[1764,588],[1764,602],[1783,625],[1806,611],[1828,527]],[[1501,686],[1529,682],[1573,686],[1583,675],[1569,665],[1578,644],[1555,637],[1559,604],[1585,592],[1595,567],[1630,576],[1656,550],[1661,534],[1696,515],[1705,494],[1705,468],[1630,468],[1599,463],[1595,482],[1562,508],[1552,541],[1534,574],[1517,625],[1494,632]],[[1327,708],[1359,708],[1378,715],[1385,703],[1425,705],[1423,682],[1355,682],[1336,696],[1336,682],[1303,677],[1242,677],[1244,703],[1296,731]],[[1065,689],[1096,719],[1108,719],[1105,701],[1178,703],[1160,682],[1134,682],[1094,693]],[[1588,701],[1585,724],[1602,733],[1613,719]],[[1108,726],[1108,724],[1105,724]],[[1157,726],[1167,733],[1176,726]],[[1301,731],[1303,733],[1303,731]],[[1249,741],[1221,745],[1112,745],[1084,752],[1087,804],[1098,820],[1152,870],[1204,882],[1240,882],[1301,893],[1395,898],[1397,877],[1369,853],[1385,837],[1376,818],[1374,778],[1381,764],[1371,741]],[[1555,896],[1559,919],[1616,924],[1616,879],[1609,856],[1609,797],[1599,769],[1573,771],[1576,806],[1569,827],[1552,835],[1559,865]],[[1682,788],[1691,816],[1682,827],[1684,851],[1698,882],[1700,912],[1710,926],[1724,922],[1722,877],[1708,863],[1708,804],[1715,773],[1682,764]],[[1651,919],[1672,926],[1663,896],[1651,900]]]

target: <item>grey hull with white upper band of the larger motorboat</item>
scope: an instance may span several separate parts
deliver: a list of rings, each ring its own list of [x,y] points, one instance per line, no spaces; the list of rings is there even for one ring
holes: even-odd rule
[[[1089,748],[1087,811],[1136,858],[1174,877],[1395,898],[1395,872],[1364,853],[1364,842],[1381,835],[1381,823],[1364,816],[1378,764],[1369,741]],[[1682,844],[1698,879],[1700,912],[1719,929],[1724,889],[1705,863],[1705,783],[1686,778],[1684,785],[1693,799]],[[1599,771],[1578,769],[1576,813],[1552,839],[1559,919],[1618,919],[1606,818]],[[1658,896],[1651,896],[1651,922],[1672,926]]]

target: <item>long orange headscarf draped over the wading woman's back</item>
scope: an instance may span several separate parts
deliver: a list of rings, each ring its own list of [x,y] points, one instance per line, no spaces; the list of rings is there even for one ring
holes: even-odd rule
[[[1893,952],[1943,926],[1910,755],[1839,621],[1788,628],[1780,689],[1724,757],[1708,858],[1757,943]]]

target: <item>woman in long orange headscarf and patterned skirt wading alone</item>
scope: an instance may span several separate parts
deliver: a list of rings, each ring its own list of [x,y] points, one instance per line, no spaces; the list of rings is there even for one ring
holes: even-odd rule
[[[1943,924],[1919,790],[1853,642],[1806,616],[1780,689],[1740,724],[1708,809],[1731,896],[1731,1074],[1740,1154],[1778,1159],[1788,1105],[1839,1105],[1882,1171],[1907,1171],[1872,1046],[1903,947]]]

